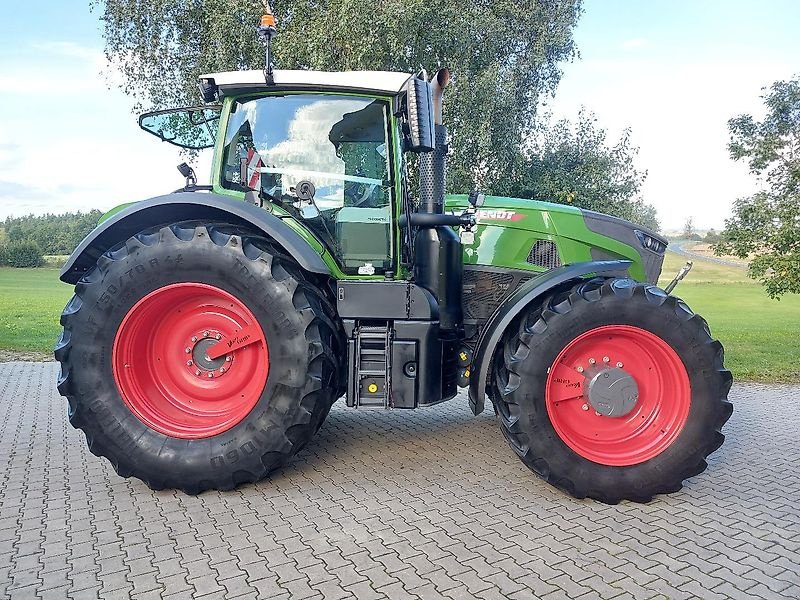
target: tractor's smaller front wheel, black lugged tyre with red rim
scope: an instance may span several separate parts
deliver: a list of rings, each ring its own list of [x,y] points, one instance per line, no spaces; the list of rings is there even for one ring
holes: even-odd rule
[[[648,502],[704,471],[724,441],[733,380],[723,358],[679,298],[598,278],[512,323],[491,396],[509,445],[547,482],[576,498]],[[622,392],[602,387],[615,380]]]

